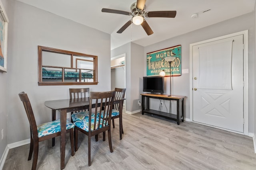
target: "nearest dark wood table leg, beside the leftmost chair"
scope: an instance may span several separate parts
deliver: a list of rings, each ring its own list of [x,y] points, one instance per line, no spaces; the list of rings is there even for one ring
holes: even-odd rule
[[[67,121],[67,109],[61,109],[60,111],[60,169],[65,168],[65,147],[66,147],[66,122]]]

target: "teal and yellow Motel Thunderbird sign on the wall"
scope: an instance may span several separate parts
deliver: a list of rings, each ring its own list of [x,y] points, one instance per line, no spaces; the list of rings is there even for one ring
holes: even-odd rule
[[[166,61],[166,57],[175,57]],[[147,53],[147,76],[159,76],[161,71],[166,76],[181,76],[181,45]]]

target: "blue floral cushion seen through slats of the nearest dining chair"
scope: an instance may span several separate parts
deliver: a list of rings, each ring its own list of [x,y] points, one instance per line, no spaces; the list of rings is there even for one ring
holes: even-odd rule
[[[94,116],[92,116],[92,120],[91,120],[91,131],[93,131],[93,129],[94,129],[94,120],[95,120],[95,118],[94,118]],[[100,119],[100,128],[102,128],[102,121],[103,121],[103,119]],[[106,121],[106,120],[105,120]],[[105,125],[105,122],[104,121],[104,125]],[[89,131],[89,116],[88,117],[86,117],[85,119],[82,119],[82,120],[78,120],[78,121],[75,121],[74,122],[74,125],[76,126],[76,127],[79,127],[80,129],[83,129],[84,131]],[[99,125],[99,117],[97,116],[96,117],[96,129],[98,129],[98,125]],[[103,125],[103,126],[104,126]],[[108,125],[108,122],[106,123],[106,125]],[[95,130],[96,130],[95,129]]]

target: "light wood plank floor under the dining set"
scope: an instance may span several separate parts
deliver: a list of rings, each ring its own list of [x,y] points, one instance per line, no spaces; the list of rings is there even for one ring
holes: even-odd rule
[[[87,136],[78,134],[78,151],[70,153],[66,141],[65,170],[256,170],[256,154],[251,137],[192,122],[175,121],[158,116],[123,116],[124,135],[119,140],[118,119],[112,129],[110,153],[106,141],[92,140],[92,166],[88,167]],[[28,129],[29,133],[29,129]],[[38,170],[60,169],[60,142],[39,144]],[[29,170],[29,144],[10,149],[4,170]]]

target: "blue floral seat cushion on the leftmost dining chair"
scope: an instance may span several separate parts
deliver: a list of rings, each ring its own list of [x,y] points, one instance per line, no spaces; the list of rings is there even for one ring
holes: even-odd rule
[[[74,124],[67,120],[66,130],[74,127],[75,127]],[[60,119],[38,125],[37,132],[38,132],[38,137],[43,137],[53,133],[60,132]]]

